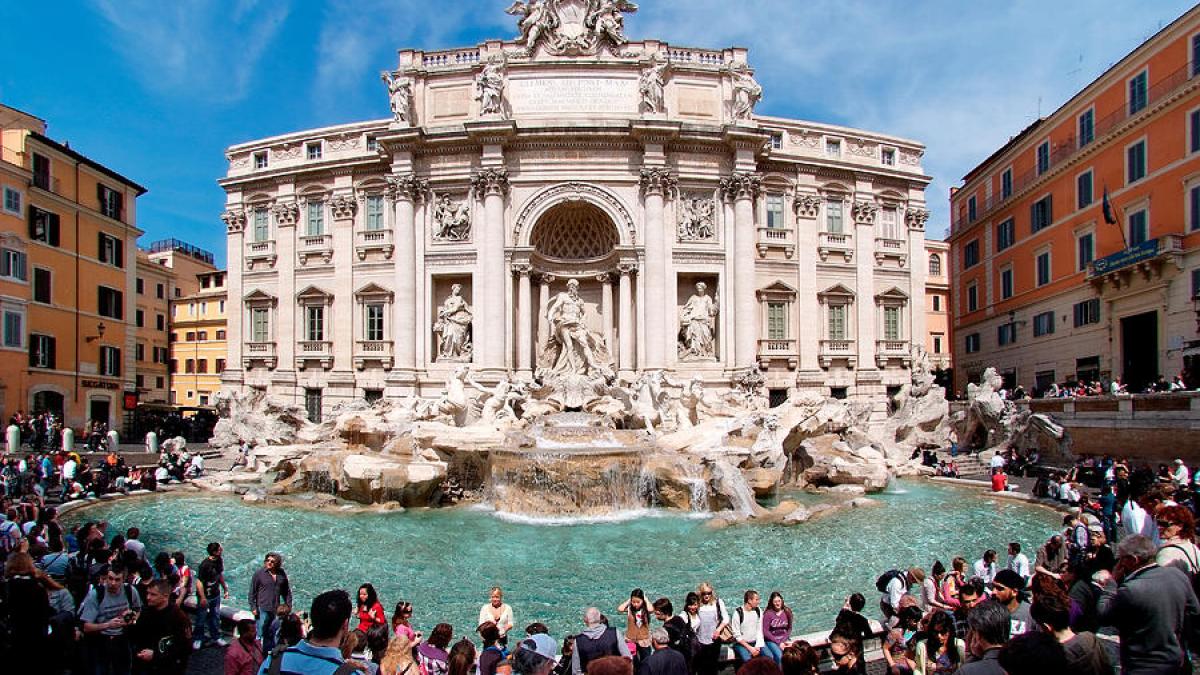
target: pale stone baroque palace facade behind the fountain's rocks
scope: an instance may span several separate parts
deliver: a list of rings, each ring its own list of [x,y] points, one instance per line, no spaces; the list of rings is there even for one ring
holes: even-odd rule
[[[632,10],[517,2],[514,41],[400,52],[391,118],[230,147],[226,388],[756,374],[882,414],[925,340],[923,145],[757,115],[745,49],[630,42]]]

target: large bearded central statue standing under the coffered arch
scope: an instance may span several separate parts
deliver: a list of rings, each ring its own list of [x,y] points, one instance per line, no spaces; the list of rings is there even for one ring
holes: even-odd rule
[[[566,282],[566,291],[554,295],[546,309],[550,340],[542,362],[553,375],[584,375],[612,377],[608,369],[608,348],[604,338],[588,330],[580,282]]]

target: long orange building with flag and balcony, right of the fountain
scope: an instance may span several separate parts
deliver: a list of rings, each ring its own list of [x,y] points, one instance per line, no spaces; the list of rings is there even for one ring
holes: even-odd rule
[[[952,191],[956,389],[1200,371],[1198,76],[1193,8]]]

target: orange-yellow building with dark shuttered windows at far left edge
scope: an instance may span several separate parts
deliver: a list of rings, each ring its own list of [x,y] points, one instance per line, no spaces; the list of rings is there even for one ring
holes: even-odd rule
[[[0,418],[119,429],[136,390],[136,201],[145,189],[0,106]]]

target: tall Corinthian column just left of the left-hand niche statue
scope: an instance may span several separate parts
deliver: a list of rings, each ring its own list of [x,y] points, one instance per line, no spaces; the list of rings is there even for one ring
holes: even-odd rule
[[[396,311],[395,354],[402,374],[416,370],[416,219],[415,202],[425,196],[428,183],[415,174],[388,177],[388,197],[396,209]]]

